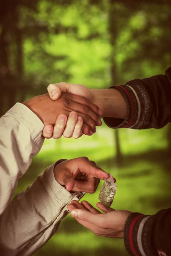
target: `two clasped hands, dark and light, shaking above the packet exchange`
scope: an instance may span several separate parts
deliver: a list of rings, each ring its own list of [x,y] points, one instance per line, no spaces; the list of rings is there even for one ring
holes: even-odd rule
[[[61,82],[49,84],[48,92],[23,102],[45,125],[47,139],[90,136],[101,126],[101,117],[125,119],[127,115],[125,99],[115,89],[90,90],[82,84]]]

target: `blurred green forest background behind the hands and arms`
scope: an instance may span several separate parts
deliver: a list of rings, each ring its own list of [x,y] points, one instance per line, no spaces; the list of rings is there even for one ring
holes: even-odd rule
[[[0,116],[15,102],[67,81],[90,88],[125,84],[171,65],[170,0],[0,2]],[[116,177],[115,209],[154,214],[171,206],[171,126],[46,140],[15,192],[60,158],[87,156]],[[96,206],[100,186],[84,199]],[[127,256],[122,240],[97,237],[69,215],[35,256]]]

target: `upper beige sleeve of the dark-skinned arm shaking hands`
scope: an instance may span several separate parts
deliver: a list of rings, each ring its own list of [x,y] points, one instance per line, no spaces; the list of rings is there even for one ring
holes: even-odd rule
[[[0,118],[0,215],[9,203],[17,180],[43,145],[43,123],[17,103]]]

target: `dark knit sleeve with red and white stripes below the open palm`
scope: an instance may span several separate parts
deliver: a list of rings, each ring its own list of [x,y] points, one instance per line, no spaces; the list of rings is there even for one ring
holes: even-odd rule
[[[171,208],[155,215],[132,213],[124,230],[124,243],[131,256],[171,255]]]

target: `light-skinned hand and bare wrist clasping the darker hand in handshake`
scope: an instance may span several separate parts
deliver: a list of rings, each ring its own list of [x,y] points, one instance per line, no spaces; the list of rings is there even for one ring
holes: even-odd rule
[[[61,92],[69,92],[74,95],[79,95],[86,97],[99,107],[99,115],[100,117],[116,117],[125,119],[127,116],[127,104],[125,102],[122,94],[116,89],[89,89],[83,84],[69,84],[65,82],[61,82],[58,84],[49,84],[48,92],[51,99],[56,100],[61,96]],[[59,120],[56,125],[59,124]],[[83,134],[81,133],[81,124],[79,126],[78,119],[75,118],[75,122],[72,122],[70,118],[67,119],[67,130],[61,128],[61,133],[64,137],[68,135],[68,137],[78,138]],[[76,125],[75,125],[76,124]],[[56,126],[55,125],[55,126]],[[46,138],[55,136],[57,137],[58,132],[56,132],[56,128],[54,127],[48,133],[46,132],[46,127],[43,130],[43,136]]]

